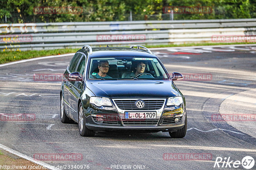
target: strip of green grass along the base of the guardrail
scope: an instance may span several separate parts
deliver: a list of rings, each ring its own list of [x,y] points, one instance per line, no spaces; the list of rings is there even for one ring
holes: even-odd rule
[[[255,44],[255,43],[193,43],[193,44],[181,44],[181,45],[146,45],[148,48],[156,48],[156,47],[180,47],[180,46],[212,46],[212,45],[231,45],[231,44]],[[128,47],[128,46],[127,46]],[[55,49],[55,50],[44,50],[44,51],[5,51],[0,52],[0,64],[12,62],[12,61],[19,61],[25,59],[31,59],[36,57],[43,57],[49,55],[60,55],[66,53],[75,53],[79,49]]]

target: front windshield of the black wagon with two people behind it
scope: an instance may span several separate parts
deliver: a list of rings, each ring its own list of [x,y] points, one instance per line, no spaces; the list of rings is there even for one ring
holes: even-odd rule
[[[91,58],[89,79],[100,80],[166,80],[164,68],[156,58]]]

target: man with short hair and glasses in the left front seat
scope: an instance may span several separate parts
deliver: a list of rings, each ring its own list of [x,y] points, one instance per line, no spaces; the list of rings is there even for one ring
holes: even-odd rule
[[[92,73],[90,79],[112,79],[108,76],[109,64],[108,61],[101,60],[98,62],[99,73]]]

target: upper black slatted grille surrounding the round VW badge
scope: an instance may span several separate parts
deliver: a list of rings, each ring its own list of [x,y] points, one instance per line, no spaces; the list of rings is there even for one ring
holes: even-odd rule
[[[142,99],[143,100],[143,99]],[[122,110],[158,110],[161,109],[164,104],[164,99],[145,99],[143,102],[145,103],[144,108],[139,109],[136,107],[137,100],[114,100],[117,107]]]

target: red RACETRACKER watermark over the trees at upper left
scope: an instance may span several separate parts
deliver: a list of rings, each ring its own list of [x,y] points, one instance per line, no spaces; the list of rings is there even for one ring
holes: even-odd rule
[[[34,14],[81,14],[80,6],[38,6],[34,7]]]

